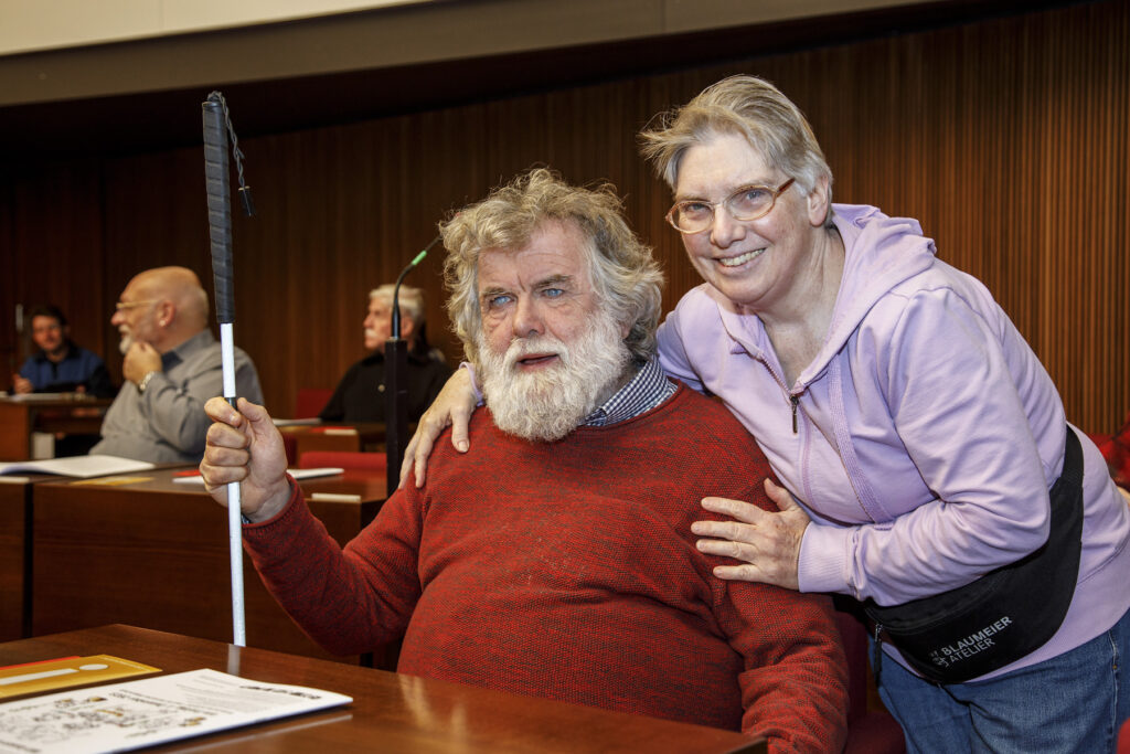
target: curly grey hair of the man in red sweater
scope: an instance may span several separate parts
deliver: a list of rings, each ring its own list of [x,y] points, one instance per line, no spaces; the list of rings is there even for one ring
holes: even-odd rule
[[[635,358],[655,354],[663,272],[623,216],[615,187],[582,189],[546,168],[519,175],[440,224],[452,329],[468,357],[478,363],[476,344],[483,328],[478,300],[479,254],[487,249],[516,250],[546,220],[576,227],[585,240],[589,277],[597,301],[616,322],[631,323],[625,345]]]

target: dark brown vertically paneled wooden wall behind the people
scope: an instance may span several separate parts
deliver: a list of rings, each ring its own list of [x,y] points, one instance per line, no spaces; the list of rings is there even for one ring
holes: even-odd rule
[[[916,217],[1028,338],[1069,418],[1110,432],[1130,409],[1130,3],[1090,2],[365,122],[241,139],[260,215],[235,218],[236,340],[270,409],[332,387],[362,356],[368,288],[395,278],[445,213],[533,164],[609,180],[668,274],[697,284],[670,199],[637,156],[657,112],[733,72],[775,81],[808,114],[836,201]],[[199,102],[185,118],[199,119]],[[231,103],[238,129],[240,102]],[[0,311],[50,300],[120,376],[110,312],[157,265],[208,274],[201,150],[19,163],[0,179]],[[441,253],[409,281],[432,340],[459,358]],[[208,284],[210,288],[210,281]],[[11,355],[10,326],[0,349]],[[6,380],[5,380],[6,381]],[[3,381],[0,381],[3,382]]]

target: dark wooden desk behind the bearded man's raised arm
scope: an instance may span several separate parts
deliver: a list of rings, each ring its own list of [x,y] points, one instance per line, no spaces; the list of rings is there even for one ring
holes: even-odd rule
[[[227,512],[202,485],[174,483],[175,474],[130,475],[146,480],[120,486],[35,485],[33,635],[127,622],[232,639]],[[385,497],[383,474],[320,477],[302,487],[314,515],[342,545]],[[315,493],[356,495],[358,502],[318,502]],[[246,556],[243,567],[249,644],[357,661],[314,644],[267,592]]]

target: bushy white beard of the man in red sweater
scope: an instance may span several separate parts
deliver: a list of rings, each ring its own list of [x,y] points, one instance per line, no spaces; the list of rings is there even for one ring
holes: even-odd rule
[[[527,440],[553,442],[575,430],[607,400],[632,359],[619,327],[599,314],[573,346],[550,336],[515,338],[495,354],[478,335],[483,393],[495,425]],[[522,372],[516,362],[529,354],[556,353],[559,363]]]

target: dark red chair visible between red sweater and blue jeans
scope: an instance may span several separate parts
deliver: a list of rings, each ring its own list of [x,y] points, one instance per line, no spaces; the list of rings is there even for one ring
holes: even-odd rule
[[[836,612],[836,624],[847,656],[847,745],[844,754],[903,754],[906,739],[886,710],[868,709],[867,630],[853,616]],[[1121,753],[1120,753],[1121,754]]]

